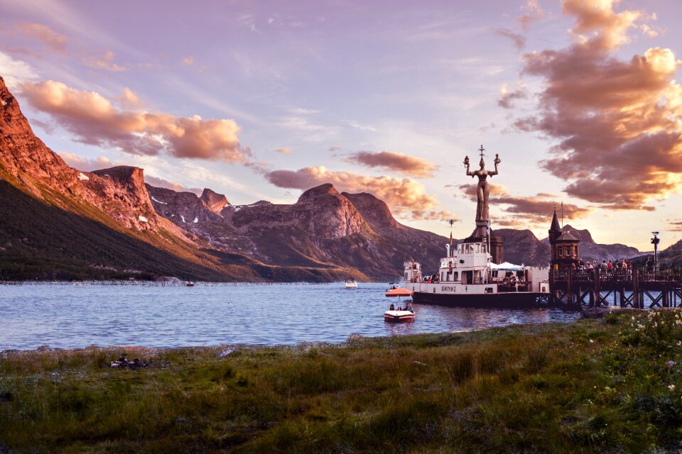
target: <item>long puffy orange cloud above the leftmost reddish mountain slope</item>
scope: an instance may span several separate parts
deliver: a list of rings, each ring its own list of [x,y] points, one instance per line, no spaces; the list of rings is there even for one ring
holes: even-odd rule
[[[75,134],[75,140],[89,145],[111,146],[134,155],[165,152],[179,158],[227,162],[244,162],[251,154],[239,146],[240,128],[234,120],[121,109],[97,92],[82,92],[52,80],[25,82],[22,94],[31,106]]]

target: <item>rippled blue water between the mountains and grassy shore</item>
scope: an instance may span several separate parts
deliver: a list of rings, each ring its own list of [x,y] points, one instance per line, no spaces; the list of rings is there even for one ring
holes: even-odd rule
[[[0,285],[0,350],[88,345],[341,343],[351,334],[467,331],[568,322],[558,309],[466,309],[415,304],[413,323],[386,323],[386,284]]]

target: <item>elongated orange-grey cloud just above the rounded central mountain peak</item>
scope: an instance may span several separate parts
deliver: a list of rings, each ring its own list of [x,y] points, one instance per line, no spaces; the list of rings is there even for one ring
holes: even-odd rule
[[[391,206],[396,216],[413,219],[433,215],[438,204],[434,196],[426,194],[423,184],[411,178],[373,177],[353,172],[331,172],[323,166],[299,170],[274,170],[265,174],[277,187],[310,189],[318,184],[331,183],[345,192],[369,192]]]

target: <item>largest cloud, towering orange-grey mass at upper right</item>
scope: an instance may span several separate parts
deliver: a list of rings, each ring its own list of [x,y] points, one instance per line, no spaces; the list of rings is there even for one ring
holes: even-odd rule
[[[650,48],[619,60],[642,11],[615,12],[609,0],[565,0],[576,42],[524,55],[524,74],[543,78],[539,114],[519,118],[520,131],[558,140],[544,170],[568,182],[565,192],[608,209],[645,209],[682,189],[681,62]]]

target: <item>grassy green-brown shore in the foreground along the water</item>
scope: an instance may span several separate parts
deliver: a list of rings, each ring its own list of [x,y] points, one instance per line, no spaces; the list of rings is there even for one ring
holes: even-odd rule
[[[677,452],[681,345],[671,309],[229,354],[3,352],[0,452]],[[149,365],[108,367],[121,353]]]

